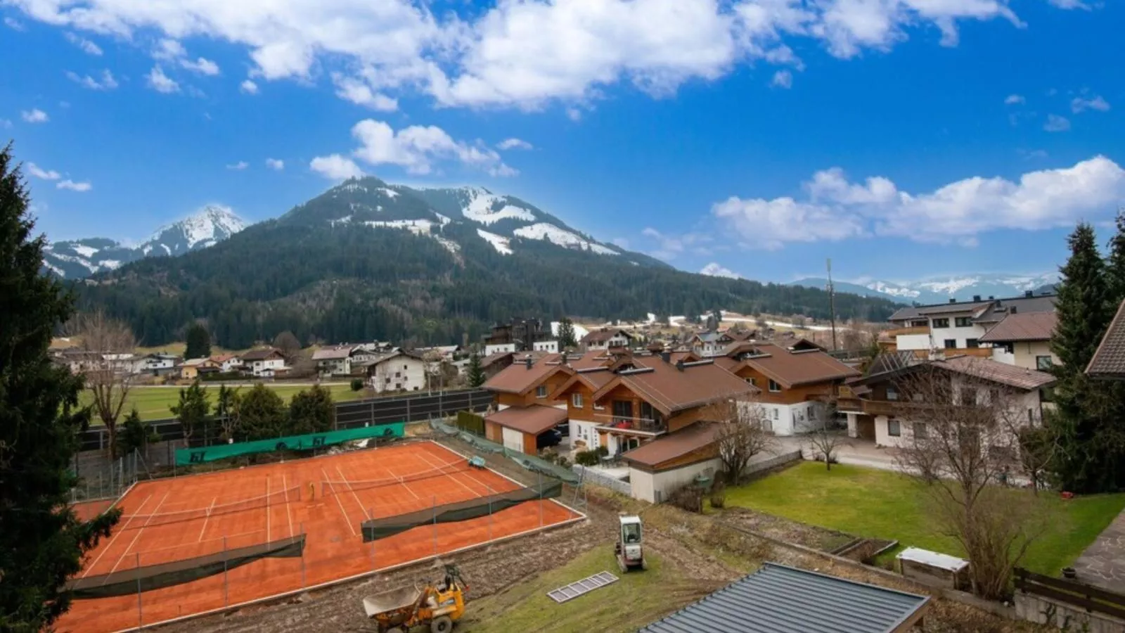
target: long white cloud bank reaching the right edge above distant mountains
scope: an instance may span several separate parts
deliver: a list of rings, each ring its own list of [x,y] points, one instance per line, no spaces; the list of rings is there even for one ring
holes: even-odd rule
[[[1070,226],[1112,212],[1125,196],[1125,170],[1105,157],[1024,173],[1018,181],[973,177],[910,194],[886,178],[849,182],[839,168],[804,184],[806,197],[716,203],[712,215],[749,247],[881,235],[972,244],[980,233]]]

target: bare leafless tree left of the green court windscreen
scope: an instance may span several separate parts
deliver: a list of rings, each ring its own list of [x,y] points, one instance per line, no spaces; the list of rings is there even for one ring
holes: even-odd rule
[[[92,410],[106,425],[109,453],[116,456],[117,419],[137,375],[133,359],[136,337],[126,323],[106,316],[100,310],[75,315],[66,329],[81,341],[86,386],[93,396]]]

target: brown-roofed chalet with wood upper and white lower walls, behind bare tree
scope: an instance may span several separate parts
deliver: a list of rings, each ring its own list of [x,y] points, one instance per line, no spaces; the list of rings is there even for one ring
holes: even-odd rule
[[[716,363],[758,390],[766,430],[789,436],[830,422],[829,403],[839,385],[862,374],[803,339],[792,346],[747,341],[730,346]]]

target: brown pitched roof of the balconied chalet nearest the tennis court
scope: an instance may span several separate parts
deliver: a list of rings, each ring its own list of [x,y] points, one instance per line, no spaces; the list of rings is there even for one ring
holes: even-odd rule
[[[637,358],[638,369],[621,372],[594,393],[594,401],[623,385],[670,416],[676,411],[709,404],[727,398],[749,395],[758,390],[711,362],[685,364],[665,363],[659,356]],[[646,371],[648,369],[648,371]]]

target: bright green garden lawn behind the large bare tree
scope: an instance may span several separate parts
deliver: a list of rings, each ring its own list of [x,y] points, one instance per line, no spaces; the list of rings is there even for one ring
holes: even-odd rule
[[[1027,490],[1012,494],[1032,496]],[[1050,492],[1047,532],[1035,543],[1023,567],[1055,576],[1070,565],[1125,508],[1125,494],[1096,494],[1071,500]],[[937,533],[927,512],[920,484],[891,471],[818,462],[802,462],[746,485],[727,489],[727,505],[740,506],[856,536],[892,538],[953,555],[964,552],[957,542]]]

